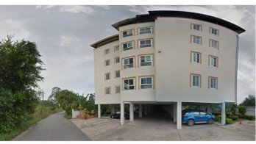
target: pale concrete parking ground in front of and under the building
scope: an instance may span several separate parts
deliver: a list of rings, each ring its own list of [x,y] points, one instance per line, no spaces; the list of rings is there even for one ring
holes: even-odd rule
[[[176,123],[166,117],[150,115],[134,121],[124,120],[124,125],[109,117],[71,121],[91,140],[255,140],[255,121],[249,120],[227,126],[182,124],[182,129],[177,129]]]

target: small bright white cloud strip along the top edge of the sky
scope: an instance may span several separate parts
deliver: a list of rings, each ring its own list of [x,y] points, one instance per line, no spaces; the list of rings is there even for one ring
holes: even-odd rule
[[[95,10],[88,6],[62,6],[60,7],[60,12],[72,12],[79,13],[84,12],[87,14],[92,14]]]

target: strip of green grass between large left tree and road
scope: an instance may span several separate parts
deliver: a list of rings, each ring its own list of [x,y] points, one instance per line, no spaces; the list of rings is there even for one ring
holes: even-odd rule
[[[56,112],[61,112],[62,110],[63,109],[60,108],[53,109],[51,107],[43,107],[41,111],[41,107],[39,106],[35,109],[35,113],[33,113],[32,115],[28,115],[26,117],[26,120],[22,121],[12,132],[7,134],[0,134],[0,140],[13,140],[13,138],[17,137],[26,129],[29,129],[30,126],[38,123],[43,118],[47,118],[49,115]]]

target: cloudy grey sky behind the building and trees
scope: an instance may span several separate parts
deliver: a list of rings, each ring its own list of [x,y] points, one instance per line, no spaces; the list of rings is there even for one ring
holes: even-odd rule
[[[246,29],[239,41],[238,103],[255,95],[255,6],[188,5],[0,5],[0,39],[35,42],[45,63],[39,82],[45,98],[52,87],[95,93],[90,44],[118,34],[111,25],[149,10],[181,10],[212,15]]]

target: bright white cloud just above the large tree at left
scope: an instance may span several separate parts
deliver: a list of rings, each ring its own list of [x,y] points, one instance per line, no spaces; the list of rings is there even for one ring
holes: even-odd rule
[[[14,35],[13,40],[29,39],[30,32],[24,29],[23,21],[16,21],[12,18],[1,20],[0,27],[0,38],[4,39],[7,35]]]

